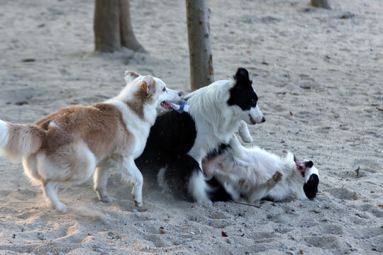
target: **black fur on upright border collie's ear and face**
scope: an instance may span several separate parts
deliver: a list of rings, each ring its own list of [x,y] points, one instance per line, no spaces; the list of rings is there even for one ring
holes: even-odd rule
[[[235,85],[230,89],[229,106],[239,106],[243,111],[257,106],[258,96],[252,89],[252,81],[249,78],[249,72],[245,68],[238,68],[235,76]]]

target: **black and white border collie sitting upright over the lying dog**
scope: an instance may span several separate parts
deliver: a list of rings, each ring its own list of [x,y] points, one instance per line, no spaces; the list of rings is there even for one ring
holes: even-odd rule
[[[156,176],[159,185],[177,198],[211,203],[224,188],[206,180],[202,159],[228,144],[243,121],[255,125],[264,123],[265,117],[244,68],[238,68],[233,79],[216,81],[184,99],[189,112],[158,115],[135,163],[144,176]]]

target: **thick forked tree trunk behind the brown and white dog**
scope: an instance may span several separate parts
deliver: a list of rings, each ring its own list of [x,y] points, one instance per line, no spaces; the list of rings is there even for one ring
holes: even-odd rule
[[[119,51],[121,47],[146,52],[133,33],[129,0],[95,1],[94,44],[100,52]]]

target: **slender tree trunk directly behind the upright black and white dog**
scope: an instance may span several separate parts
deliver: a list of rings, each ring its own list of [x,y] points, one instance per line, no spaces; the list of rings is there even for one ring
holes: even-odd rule
[[[186,6],[190,83],[191,90],[194,91],[211,84],[214,80],[209,8],[207,0],[186,0]]]

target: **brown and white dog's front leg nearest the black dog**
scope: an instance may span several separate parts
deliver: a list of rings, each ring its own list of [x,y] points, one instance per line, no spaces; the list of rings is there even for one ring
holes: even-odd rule
[[[135,206],[143,206],[143,174],[134,163],[133,156],[123,158],[123,174],[133,183],[132,195]]]

